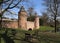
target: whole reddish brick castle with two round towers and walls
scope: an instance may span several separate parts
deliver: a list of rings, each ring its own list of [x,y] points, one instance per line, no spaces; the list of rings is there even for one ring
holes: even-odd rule
[[[38,29],[39,28],[39,17],[36,16],[35,20],[27,21],[27,12],[22,6],[20,11],[18,12],[18,20],[3,20],[2,27],[6,28],[20,28],[24,30],[28,29]]]

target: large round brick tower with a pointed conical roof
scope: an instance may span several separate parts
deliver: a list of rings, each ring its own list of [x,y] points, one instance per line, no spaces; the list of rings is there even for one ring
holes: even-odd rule
[[[21,6],[21,9],[18,14],[18,28],[26,30],[27,28],[27,12],[24,7]]]

